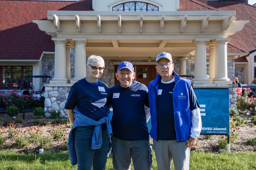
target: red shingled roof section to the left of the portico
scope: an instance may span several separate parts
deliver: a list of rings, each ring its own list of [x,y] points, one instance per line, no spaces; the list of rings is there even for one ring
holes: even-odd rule
[[[0,59],[39,59],[43,51],[54,52],[51,36],[33,20],[47,19],[47,10],[92,10],[91,0],[0,1]],[[74,4],[74,5],[72,5]]]

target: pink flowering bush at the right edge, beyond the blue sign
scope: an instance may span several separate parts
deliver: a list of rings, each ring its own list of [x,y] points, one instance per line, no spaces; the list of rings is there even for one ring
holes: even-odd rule
[[[256,114],[256,98],[250,96],[250,88],[243,88],[244,94],[237,94],[237,109],[240,113],[250,112]]]

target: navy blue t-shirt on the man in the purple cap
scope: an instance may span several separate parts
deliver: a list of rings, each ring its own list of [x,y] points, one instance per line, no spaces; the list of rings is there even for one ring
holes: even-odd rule
[[[145,105],[148,104],[148,89],[132,80],[131,86],[123,88],[120,83],[110,89],[113,107],[112,131],[121,140],[149,140]]]

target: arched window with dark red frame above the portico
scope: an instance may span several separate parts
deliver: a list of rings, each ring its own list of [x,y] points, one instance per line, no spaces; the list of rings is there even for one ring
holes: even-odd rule
[[[112,11],[158,11],[158,7],[145,2],[126,2],[114,6]]]

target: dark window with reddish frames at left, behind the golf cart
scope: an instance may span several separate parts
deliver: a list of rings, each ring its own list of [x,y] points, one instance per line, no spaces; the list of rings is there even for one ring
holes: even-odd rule
[[[32,76],[32,66],[0,66],[0,89],[21,89],[24,83],[24,76]],[[27,89],[29,82],[25,82]]]

